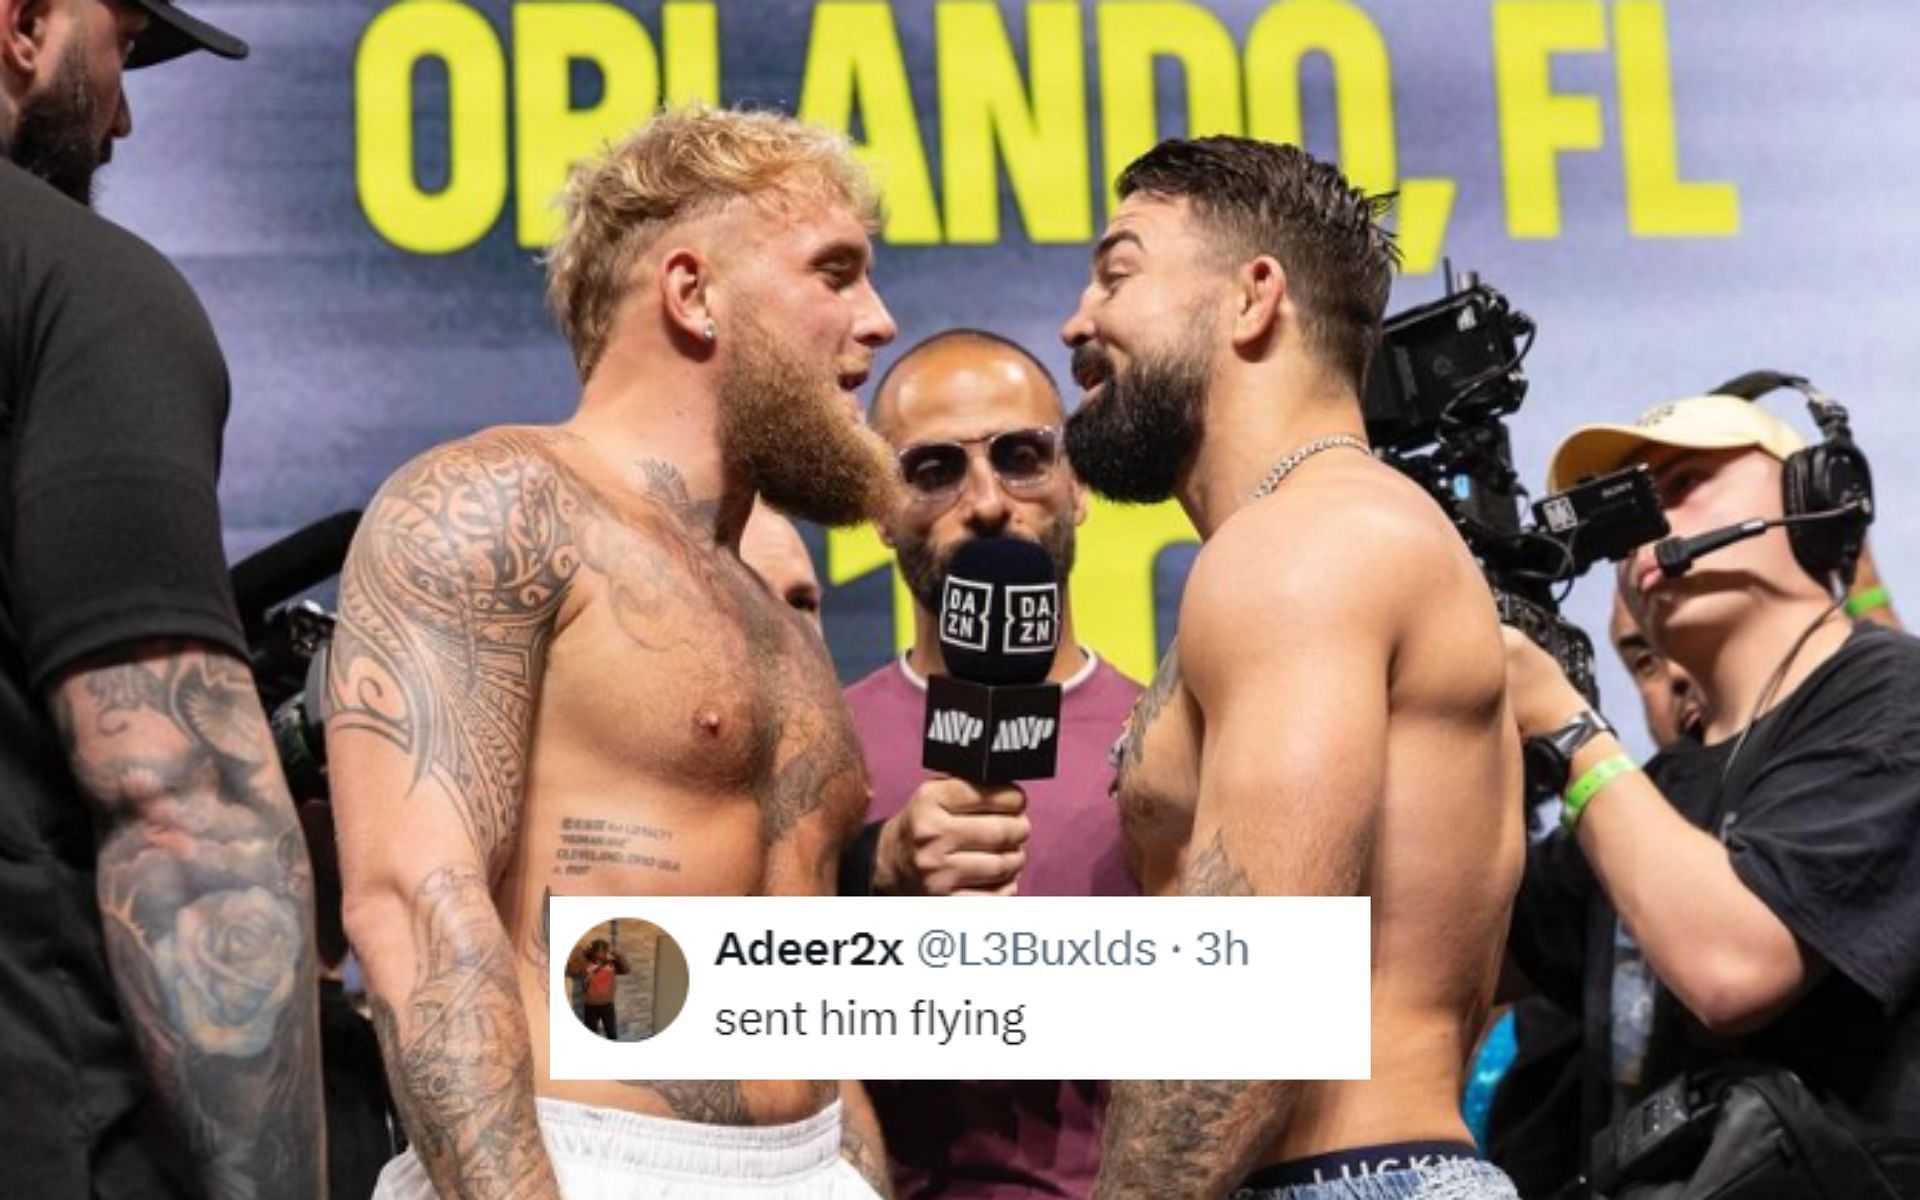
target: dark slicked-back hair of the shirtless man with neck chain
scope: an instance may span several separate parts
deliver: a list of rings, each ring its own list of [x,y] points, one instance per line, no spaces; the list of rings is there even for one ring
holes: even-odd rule
[[[1175,138],[1119,173],[1119,196],[1185,198],[1240,263],[1273,255],[1300,307],[1306,342],[1365,386],[1400,252],[1380,228],[1392,196],[1367,196],[1298,146]]]

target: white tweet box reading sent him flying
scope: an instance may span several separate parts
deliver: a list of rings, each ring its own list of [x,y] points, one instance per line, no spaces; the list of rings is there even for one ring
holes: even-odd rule
[[[555,897],[553,1077],[1365,1079],[1369,908],[1269,897]],[[662,1010],[678,1004],[645,1041],[589,1033],[568,996],[568,950],[607,922],[645,922],[674,943],[649,931],[622,947],[659,958],[626,954],[626,966],[653,972],[647,995]],[[639,991],[628,995],[632,1008]],[[647,1023],[628,1012],[620,1035]]]

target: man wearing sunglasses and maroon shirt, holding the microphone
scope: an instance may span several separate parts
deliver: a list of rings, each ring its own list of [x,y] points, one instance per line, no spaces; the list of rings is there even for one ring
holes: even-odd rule
[[[977,789],[920,766],[925,678],[941,672],[935,614],[970,538],[1046,547],[1066,584],[1087,495],[1060,453],[1060,392],[1020,346],[954,330],[906,351],[874,399],[906,499],[881,536],[914,595],[914,645],[847,691],[874,781],[874,891],[893,895],[1137,895],[1108,797],[1106,751],[1139,685],[1073,639],[1062,609],[1060,772]],[[1085,1196],[1104,1085],[870,1083],[902,1196]]]

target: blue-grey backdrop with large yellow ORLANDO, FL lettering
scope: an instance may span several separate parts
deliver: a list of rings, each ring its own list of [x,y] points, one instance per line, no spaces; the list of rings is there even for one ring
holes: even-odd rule
[[[1851,405],[1872,453],[1895,597],[1920,578],[1910,0],[194,8],[253,58],[132,75],[136,132],[102,209],[186,271],[221,332],[234,555],[365,503],[426,445],[564,417],[576,384],[538,263],[557,173],[659,100],[707,96],[868,146],[893,213],[877,280],[895,349],[985,326],[1062,378],[1058,326],[1125,157],[1179,132],[1296,136],[1402,188],[1394,307],[1438,296],[1450,255],[1538,321],[1513,420],[1530,482],[1580,420],[1799,371]],[[1791,397],[1770,403],[1809,428]],[[868,572],[881,557],[808,538],[839,580],[835,659],[860,674],[900,636]],[[1144,672],[1190,561],[1177,518],[1102,513],[1083,553],[1087,639]],[[1609,588],[1596,572],[1571,605],[1596,636]],[[1638,726],[1611,659],[1601,684]]]

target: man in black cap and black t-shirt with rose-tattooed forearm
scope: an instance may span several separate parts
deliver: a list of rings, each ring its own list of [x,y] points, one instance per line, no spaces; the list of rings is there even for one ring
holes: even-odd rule
[[[311,872],[215,499],[186,280],[88,211],[121,71],[236,38],[0,0],[0,1192],[324,1188]]]

